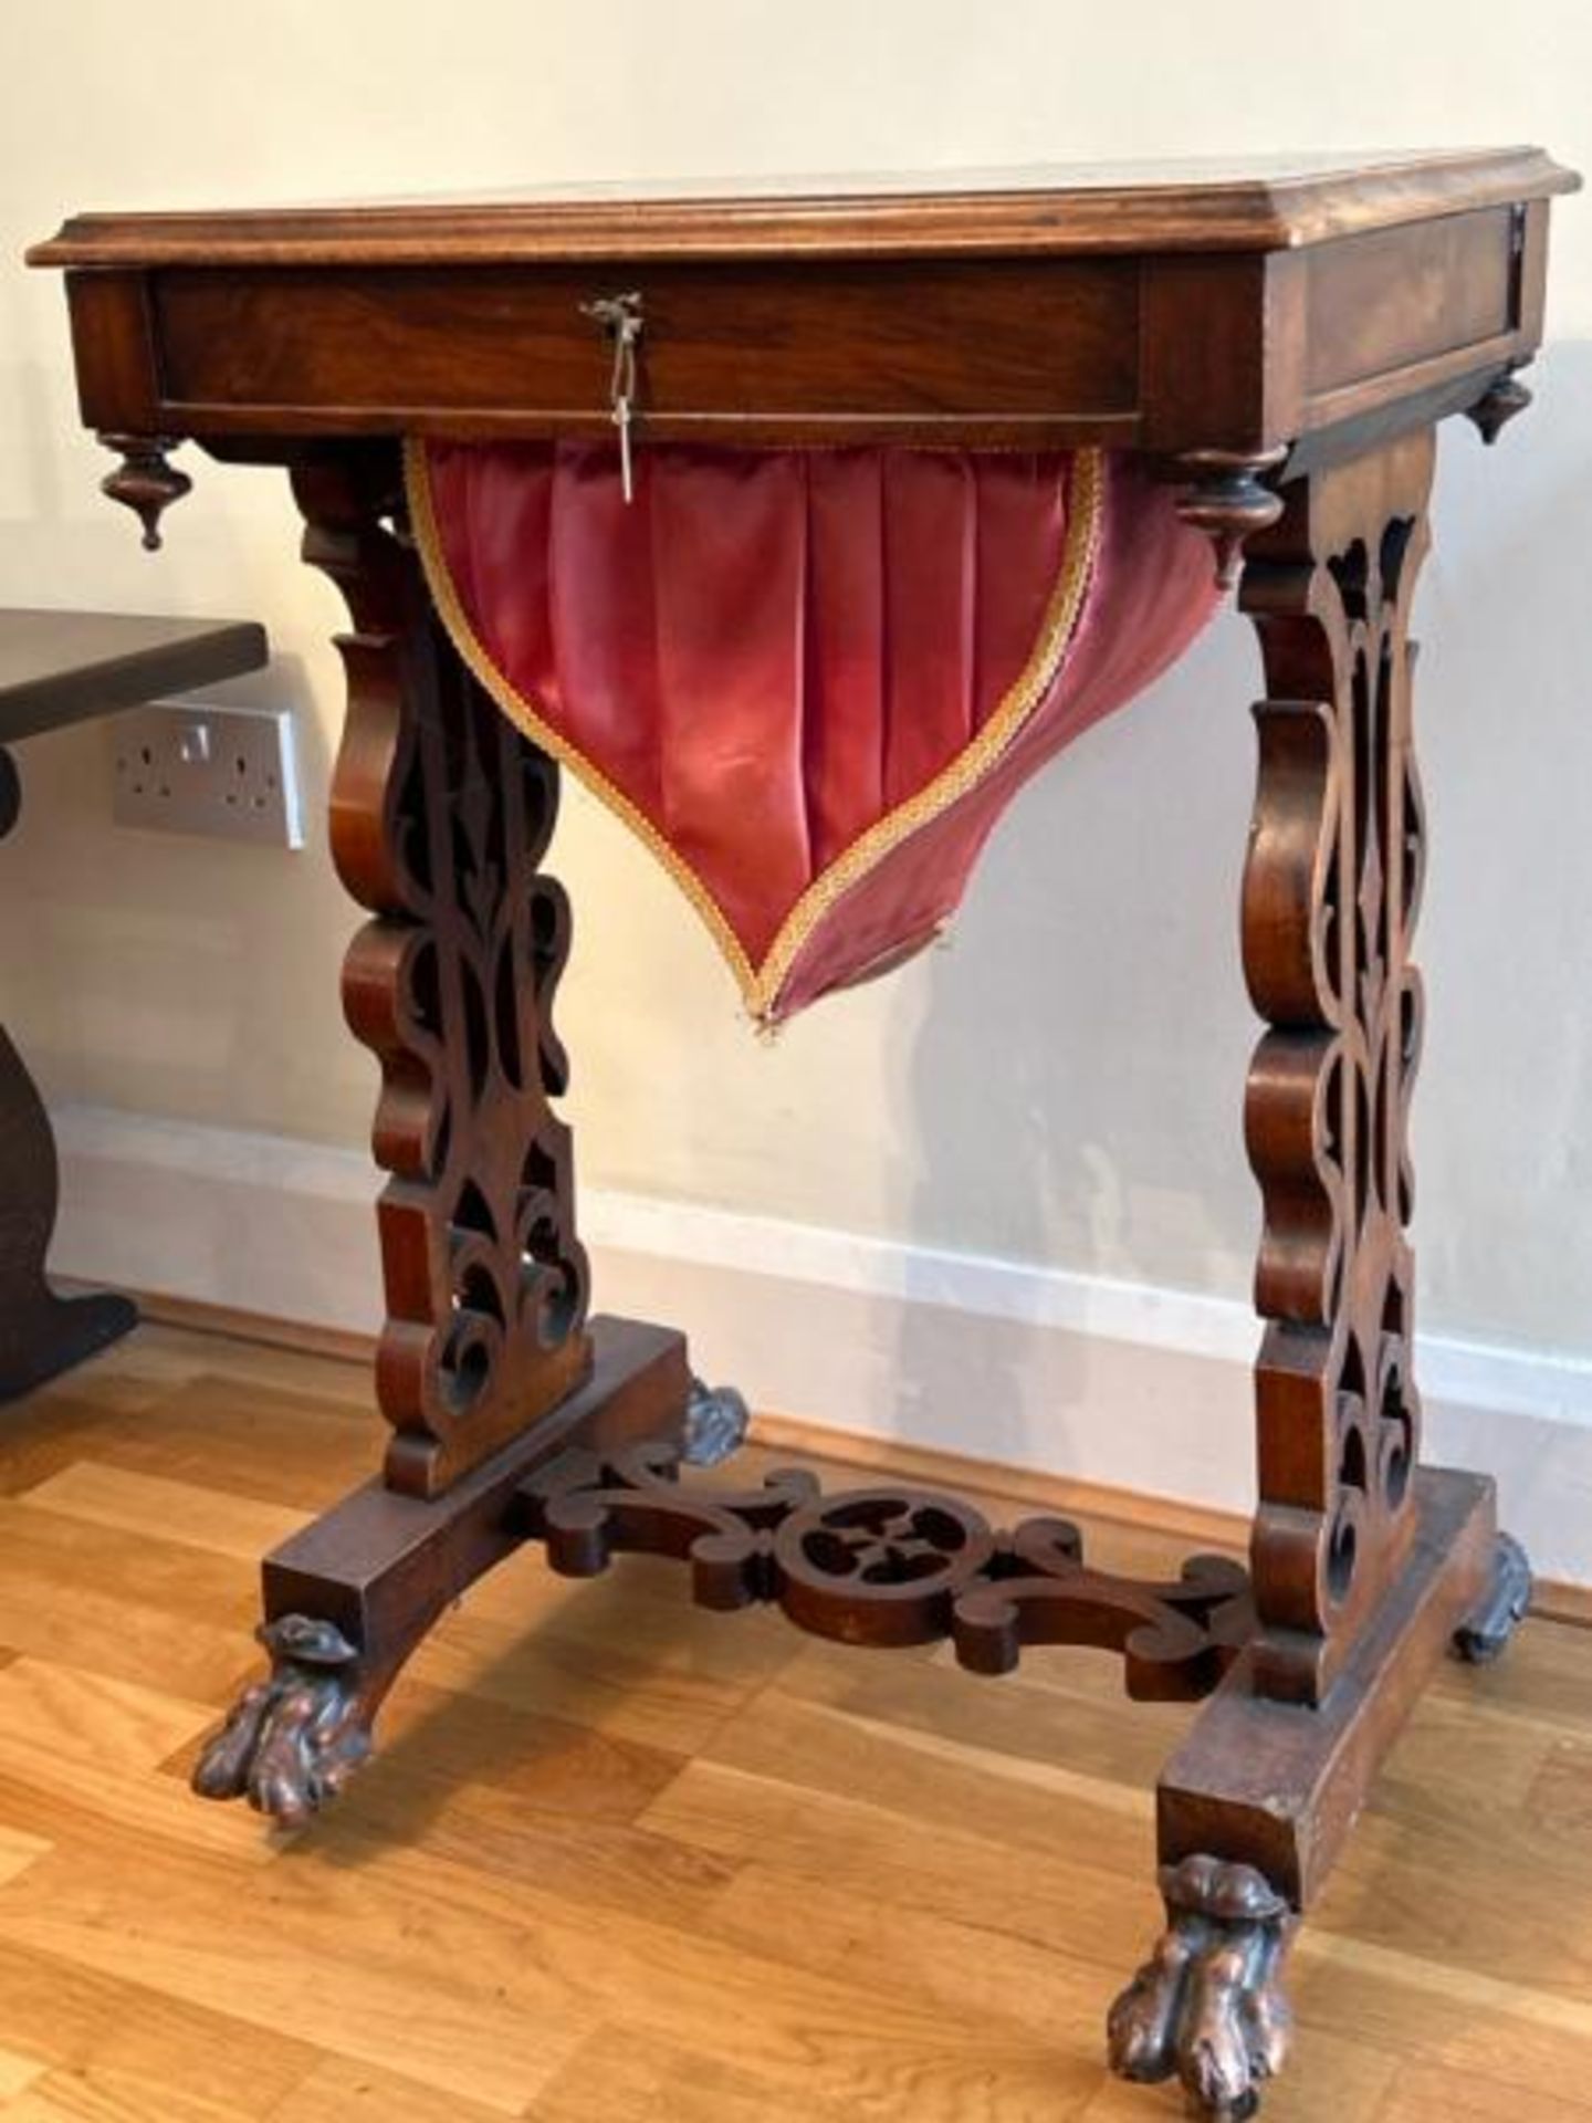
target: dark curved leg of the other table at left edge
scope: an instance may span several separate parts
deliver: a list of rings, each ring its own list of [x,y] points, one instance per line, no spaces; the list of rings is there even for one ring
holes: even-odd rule
[[[21,786],[0,749],[0,841],[21,811]],[[57,1297],[45,1278],[59,1166],[49,1115],[0,1030],[0,1401],[42,1386],[138,1323],[125,1297]]]

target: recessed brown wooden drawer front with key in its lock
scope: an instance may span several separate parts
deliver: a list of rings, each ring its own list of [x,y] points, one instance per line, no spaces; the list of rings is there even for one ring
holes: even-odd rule
[[[633,291],[656,433],[1136,410],[1131,259],[163,270],[159,397],[189,431],[603,429],[611,346],[584,306]]]

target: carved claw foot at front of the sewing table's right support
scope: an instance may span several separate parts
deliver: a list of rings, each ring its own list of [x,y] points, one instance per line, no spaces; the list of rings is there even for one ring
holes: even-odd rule
[[[1254,1866],[1218,1858],[1163,1866],[1161,1900],[1167,1930],[1110,2008],[1110,2068],[1138,2081],[1176,2074],[1191,2115],[1240,2123],[1288,2049],[1293,1911]]]

